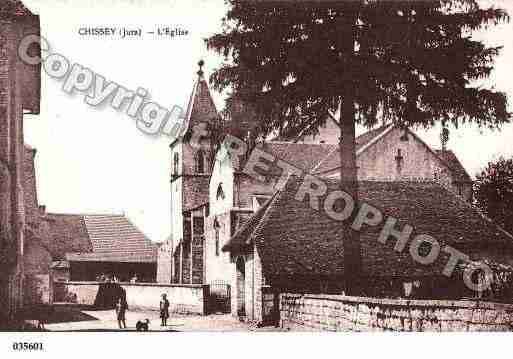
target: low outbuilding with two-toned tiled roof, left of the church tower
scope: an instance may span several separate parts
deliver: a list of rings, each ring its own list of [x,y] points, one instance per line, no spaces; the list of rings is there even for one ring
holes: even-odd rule
[[[104,275],[155,282],[157,246],[124,215],[48,213],[47,220],[61,278],[69,266],[71,281],[96,281]]]

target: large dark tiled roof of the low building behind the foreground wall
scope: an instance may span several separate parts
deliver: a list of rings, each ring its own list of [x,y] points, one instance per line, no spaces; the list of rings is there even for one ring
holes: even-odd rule
[[[330,191],[337,181],[328,180]],[[223,250],[238,251],[256,244],[267,275],[343,274],[343,241],[347,225],[311,209],[294,199],[297,181],[289,181]],[[410,238],[427,234],[441,245],[463,252],[477,246],[504,246],[513,250],[513,237],[487,220],[459,197],[432,182],[360,182],[361,201],[380,209],[385,218],[398,219],[396,228],[414,227]],[[377,241],[382,225],[364,226],[360,231],[362,270],[369,276],[440,275],[448,256],[442,254],[432,265],[413,261],[408,247],[398,253],[394,239]]]

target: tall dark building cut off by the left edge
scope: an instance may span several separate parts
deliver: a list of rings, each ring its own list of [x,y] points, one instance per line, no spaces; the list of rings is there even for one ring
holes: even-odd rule
[[[40,67],[21,62],[20,39],[39,34],[39,17],[18,0],[0,7],[0,326],[23,305],[25,213],[23,115],[38,114]],[[34,54],[39,49],[30,50]]]

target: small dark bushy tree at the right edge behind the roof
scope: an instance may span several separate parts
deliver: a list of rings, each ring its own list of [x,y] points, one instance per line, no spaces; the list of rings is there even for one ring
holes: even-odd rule
[[[513,158],[499,158],[476,176],[477,206],[508,232],[513,233]]]

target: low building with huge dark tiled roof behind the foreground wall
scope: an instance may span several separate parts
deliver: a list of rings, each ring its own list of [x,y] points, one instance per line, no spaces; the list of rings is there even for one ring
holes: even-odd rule
[[[339,182],[324,179],[328,191]],[[290,180],[242,225],[222,250],[230,257],[232,313],[265,321],[271,311],[266,297],[274,292],[340,294],[345,280],[345,242],[349,224],[334,220],[325,211],[311,208],[295,195],[300,179]],[[472,260],[513,263],[513,236],[485,218],[465,201],[433,181],[361,181],[359,199],[397,219],[398,231],[414,228],[449,245]],[[325,199],[326,197],[324,197]],[[384,221],[383,221],[384,222]],[[454,299],[471,295],[461,275],[443,275],[449,254],[443,252],[429,264],[416,262],[408,246],[397,251],[397,237],[378,241],[381,226],[363,226],[361,291],[366,296]],[[418,249],[419,252],[422,249]],[[429,251],[430,249],[427,248]],[[414,289],[412,289],[414,287]],[[272,303],[271,303],[272,307]]]

